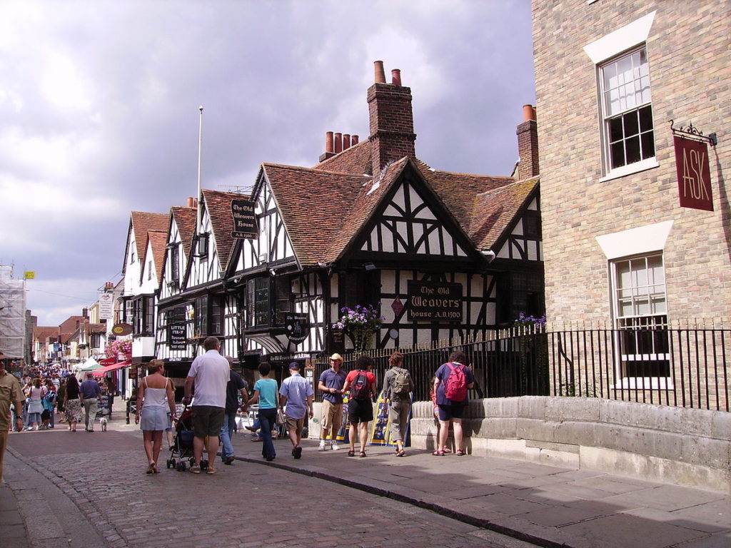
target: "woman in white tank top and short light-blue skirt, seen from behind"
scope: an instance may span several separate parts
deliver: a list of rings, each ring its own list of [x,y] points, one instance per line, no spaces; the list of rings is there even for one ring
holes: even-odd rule
[[[148,376],[137,387],[137,414],[135,424],[139,423],[143,432],[145,454],[147,454],[147,473],[159,473],[157,457],[162,446],[162,433],[168,426],[167,413],[175,418],[175,395],[173,381],[164,373],[161,359],[153,359],[147,367]]]

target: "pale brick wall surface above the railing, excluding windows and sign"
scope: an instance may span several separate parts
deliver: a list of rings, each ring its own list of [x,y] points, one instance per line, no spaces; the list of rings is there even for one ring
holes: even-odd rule
[[[656,10],[647,41],[659,167],[600,181],[596,67],[583,46]],[[609,318],[607,259],[597,235],[673,221],[664,248],[670,319],[731,310],[731,1],[534,0],[546,305],[555,321]],[[676,126],[709,147],[714,211],[681,208]]]

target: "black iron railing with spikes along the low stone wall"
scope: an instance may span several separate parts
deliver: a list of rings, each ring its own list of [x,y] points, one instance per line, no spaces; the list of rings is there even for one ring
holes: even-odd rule
[[[416,385],[430,398],[431,381],[452,350],[474,372],[469,397],[552,395],[603,397],[663,406],[731,411],[731,330],[624,328],[508,330],[485,340],[457,340],[400,349]],[[381,381],[390,351],[371,351]],[[344,356],[350,370],[355,357]],[[328,365],[317,364],[317,377]]]

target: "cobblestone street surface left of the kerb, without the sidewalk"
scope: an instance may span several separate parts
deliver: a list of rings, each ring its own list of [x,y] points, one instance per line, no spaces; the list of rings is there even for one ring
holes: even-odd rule
[[[256,463],[219,463],[214,476],[165,468],[147,475],[138,431],[120,427],[127,431],[10,436],[5,481],[19,499],[30,541],[16,527],[6,548],[527,546],[507,538],[496,543],[491,539],[502,537],[488,530]],[[249,443],[243,435],[237,441]],[[284,452],[289,442],[277,446]],[[161,453],[163,466],[167,455]]]

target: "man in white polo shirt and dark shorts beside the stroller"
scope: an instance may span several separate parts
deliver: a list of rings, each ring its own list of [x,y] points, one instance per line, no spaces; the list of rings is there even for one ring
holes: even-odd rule
[[[216,473],[213,466],[216,453],[219,450],[219,432],[224,424],[226,411],[226,384],[229,381],[229,362],[221,356],[221,343],[215,337],[208,337],[203,341],[202,354],[193,360],[188,378],[185,380],[186,405],[191,401],[193,392],[193,458],[194,464],[190,467],[192,473],[200,473],[200,459],[203,454],[205,437],[208,436],[208,471]]]

